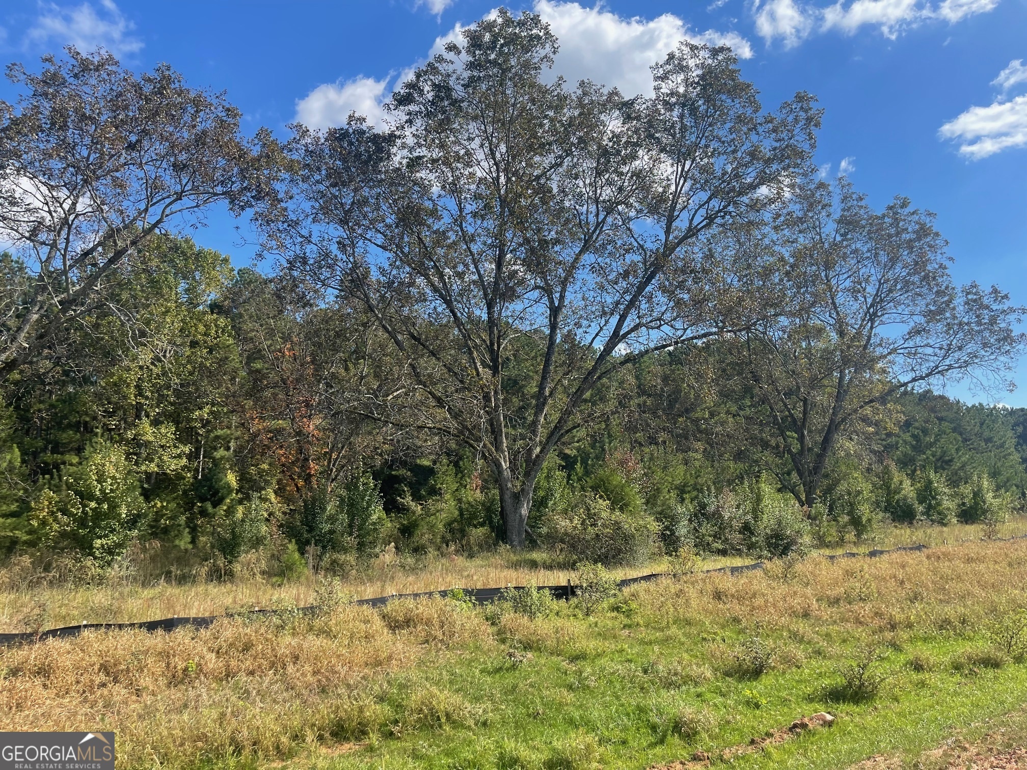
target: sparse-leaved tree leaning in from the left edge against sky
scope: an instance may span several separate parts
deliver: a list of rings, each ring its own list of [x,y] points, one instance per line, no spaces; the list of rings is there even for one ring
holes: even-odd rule
[[[104,303],[134,323],[139,308],[105,291],[117,273],[207,206],[245,207],[261,179],[222,94],[165,65],[137,76],[103,51],[68,56],[38,74],[11,65],[24,92],[0,101],[0,241],[21,278],[0,287],[0,378]]]

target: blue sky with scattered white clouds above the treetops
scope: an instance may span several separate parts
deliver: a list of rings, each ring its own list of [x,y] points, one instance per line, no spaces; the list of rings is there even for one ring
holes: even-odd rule
[[[349,110],[375,117],[405,70],[495,8],[480,0],[65,3],[7,0],[0,63],[32,66],[75,43],[135,69],[167,62],[194,86],[227,91],[248,130],[283,136]],[[938,214],[960,282],[998,283],[1027,305],[1027,0],[558,0],[535,9],[561,37],[557,68],[626,91],[684,37],[726,42],[764,104],[796,90],[825,108],[817,162],[847,171],[877,206],[893,195]],[[9,83],[0,98],[14,95]],[[241,237],[235,231],[241,226]],[[196,233],[249,264],[248,227],[222,213]],[[1000,400],[1027,406],[1019,388]],[[953,395],[976,399],[963,386]],[[991,400],[987,396],[981,396]]]

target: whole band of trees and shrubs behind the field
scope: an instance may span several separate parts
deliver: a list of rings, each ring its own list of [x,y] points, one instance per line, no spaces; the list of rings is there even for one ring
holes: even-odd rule
[[[286,140],[167,67],[9,68],[0,551],[615,564],[1019,509],[1027,410],[930,388],[1006,386],[1021,309],[933,215],[821,179],[815,101],[764,111],[727,48],[624,98],[558,45],[502,11],[384,127]],[[259,269],[185,234],[213,205]]]

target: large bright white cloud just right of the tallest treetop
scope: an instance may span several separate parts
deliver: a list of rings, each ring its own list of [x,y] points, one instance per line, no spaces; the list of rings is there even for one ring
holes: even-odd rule
[[[652,90],[649,68],[680,41],[729,45],[739,59],[753,55],[749,41],[734,32],[695,32],[681,18],[664,13],[651,21],[624,18],[601,5],[535,0],[535,12],[560,40],[554,71],[570,83],[588,78],[616,86],[629,95]]]

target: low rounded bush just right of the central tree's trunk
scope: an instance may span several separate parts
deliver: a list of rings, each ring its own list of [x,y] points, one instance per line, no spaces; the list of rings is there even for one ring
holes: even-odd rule
[[[647,514],[630,513],[605,497],[582,493],[547,516],[541,539],[575,561],[630,565],[649,559],[656,532],[656,523]]]

